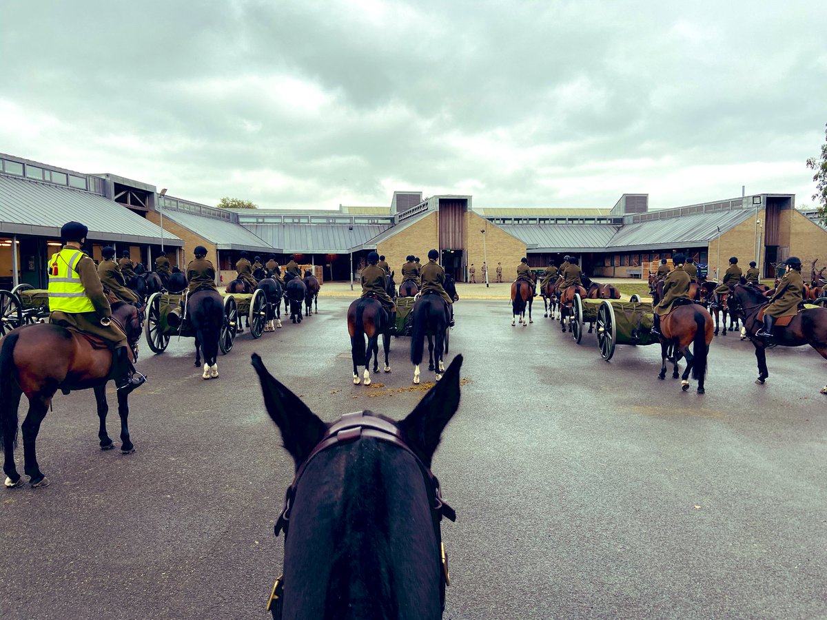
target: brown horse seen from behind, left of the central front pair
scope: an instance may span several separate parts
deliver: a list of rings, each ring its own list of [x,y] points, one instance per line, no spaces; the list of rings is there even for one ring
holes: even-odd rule
[[[390,373],[390,316],[382,308],[379,299],[367,296],[354,299],[347,308],[347,332],[351,336],[351,360],[353,360],[353,384],[361,383],[359,366],[365,367],[364,380],[370,385],[370,357],[373,371],[379,372],[379,336],[385,349],[385,372]],[[367,344],[365,338],[367,337]]]

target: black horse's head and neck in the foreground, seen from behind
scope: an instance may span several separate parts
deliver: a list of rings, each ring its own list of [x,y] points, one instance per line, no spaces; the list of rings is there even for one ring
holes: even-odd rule
[[[459,408],[461,363],[457,355],[401,422],[362,411],[328,426],[252,356],[295,465],[275,527],[284,573],[270,594],[274,617],[442,618],[450,579],[440,523],[457,515],[431,463]]]

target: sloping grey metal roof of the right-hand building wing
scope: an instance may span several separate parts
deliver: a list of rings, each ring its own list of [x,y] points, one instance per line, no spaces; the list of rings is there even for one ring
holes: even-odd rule
[[[653,222],[626,224],[606,244],[608,250],[625,250],[634,247],[646,247],[652,250],[671,249],[693,245],[706,245],[718,236],[739,225],[749,217],[754,217],[752,209],[734,209],[733,211],[700,213],[681,217],[668,217]]]

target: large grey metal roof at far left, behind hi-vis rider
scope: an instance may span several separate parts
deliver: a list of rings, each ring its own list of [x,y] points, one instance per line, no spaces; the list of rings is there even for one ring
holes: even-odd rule
[[[12,235],[60,238],[60,227],[83,222],[89,239],[125,243],[160,243],[161,230],[120,203],[96,193],[0,174],[0,231]],[[183,246],[164,231],[164,242]]]

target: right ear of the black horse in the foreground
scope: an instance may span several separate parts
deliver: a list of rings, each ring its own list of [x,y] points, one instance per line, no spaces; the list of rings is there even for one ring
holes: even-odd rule
[[[442,439],[442,431],[460,405],[461,365],[462,355],[457,355],[442,379],[428,390],[414,411],[399,422],[399,429],[404,433],[408,445],[427,467],[431,466],[433,453],[437,451]]]

